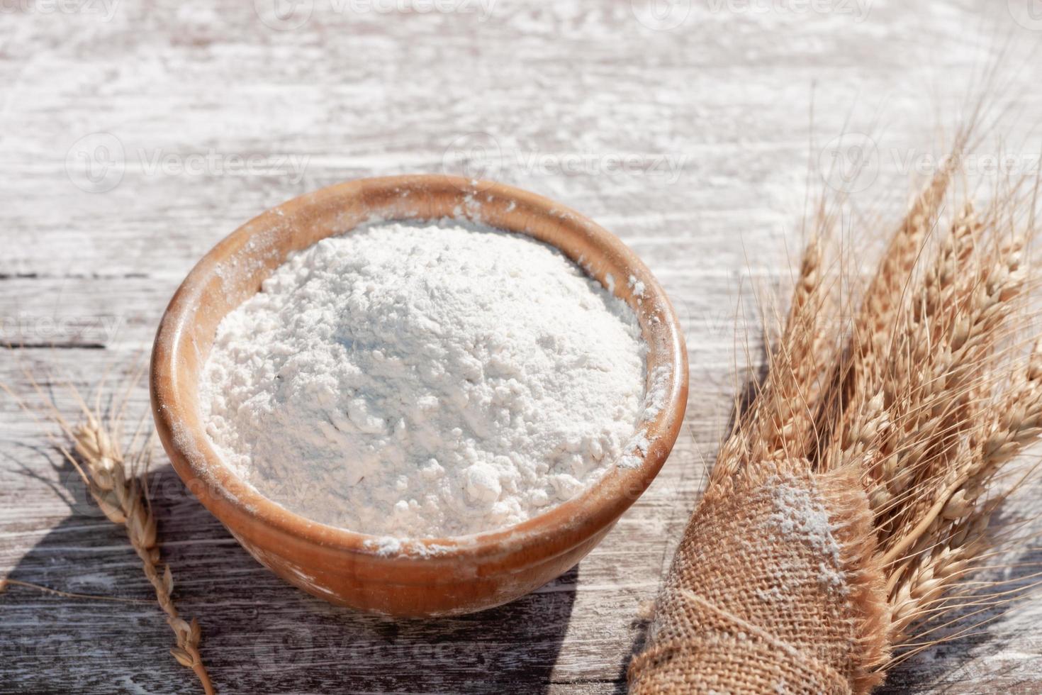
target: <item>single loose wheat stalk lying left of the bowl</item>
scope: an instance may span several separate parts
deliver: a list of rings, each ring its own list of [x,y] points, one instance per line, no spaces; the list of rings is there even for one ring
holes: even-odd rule
[[[167,624],[174,632],[177,646],[172,648],[170,653],[178,664],[192,669],[203,691],[207,695],[213,695],[214,686],[199,653],[201,639],[199,622],[195,618],[191,621],[184,620],[174,605],[172,598],[174,578],[170,566],[160,565],[155,517],[152,514],[151,503],[144,493],[144,486],[140,482],[146,479],[151,463],[153,450],[151,437],[141,442],[141,425],[139,425],[129,447],[133,453],[126,455],[120,444],[122,406],[114,408],[115,413],[109,411],[106,416],[100,405],[100,392],[92,408],[79,393],[72,389],[82,416],[81,422],[72,425],[58,412],[53,400],[43,394],[35,379],[29,374],[26,376],[36,395],[47,399],[46,414],[65,437],[65,441],[56,442],[57,449],[75,468],[105,517],[126,530],[130,546],[141,559],[145,576],[152,585],[156,601],[166,615]],[[14,391],[2,383],[0,388],[7,392],[25,412],[36,417]],[[34,588],[46,590],[43,587],[34,586]],[[64,592],[46,591],[66,595]]]

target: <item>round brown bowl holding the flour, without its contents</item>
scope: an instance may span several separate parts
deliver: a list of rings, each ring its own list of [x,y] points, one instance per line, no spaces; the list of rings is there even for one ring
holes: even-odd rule
[[[389,552],[375,537],[313,522],[237,477],[200,422],[199,372],[218,323],[260,288],[292,251],[367,222],[467,218],[529,234],[564,251],[636,312],[648,390],[664,407],[643,422],[650,442],[637,468],[613,468],[579,496],[521,524],[466,537],[404,541]],[[630,276],[644,283],[634,296]],[[652,383],[654,381],[654,383]],[[479,611],[566,572],[651,482],[684,418],[688,361],[676,316],[651,273],[592,221],[526,191],[450,176],[392,176],[322,189],[270,209],[203,256],[177,290],[152,351],[152,408],[163,445],[185,485],[240,543],[277,575],[316,596],[395,616]]]

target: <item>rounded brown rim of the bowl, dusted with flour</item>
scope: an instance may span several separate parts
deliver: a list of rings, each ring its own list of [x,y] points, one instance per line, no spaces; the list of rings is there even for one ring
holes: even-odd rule
[[[412,194],[448,188],[458,191],[462,199],[510,201],[512,204],[525,205],[526,209],[555,223],[565,221],[574,228],[575,233],[588,235],[589,241],[603,249],[605,254],[615,254],[621,259],[630,270],[630,275],[644,283],[643,292],[638,293],[640,301],[632,295],[631,288],[625,287],[629,283],[621,282],[614,289],[607,289],[615,296],[626,300],[638,315],[641,336],[648,344],[646,390],[651,387],[653,376],[650,355],[655,344],[661,346],[659,352],[665,359],[659,364],[668,363],[670,366],[668,384],[665,384],[667,395],[658,414],[638,425],[638,431],[646,425],[649,440],[646,450],[638,451],[643,456],[639,466],[625,468],[616,465],[577,496],[512,526],[468,536],[397,539],[389,545],[388,536],[349,530],[307,519],[269,499],[240,478],[224,463],[201,427],[193,428],[184,424],[181,415],[184,408],[196,408],[198,412],[199,404],[195,398],[176,388],[174,377],[178,369],[179,352],[190,347],[183,344],[188,340],[183,333],[185,322],[194,317],[196,302],[193,300],[202,296],[206,280],[212,279],[218,271],[219,264],[215,258],[227,252],[228,248],[245,246],[252,235],[272,225],[281,224],[284,228],[286,220],[293,219],[297,213],[315,206],[337,204],[347,197],[367,201],[378,197],[375,194],[388,191]],[[464,209],[456,217],[482,222],[480,218],[471,217],[471,213],[470,208]],[[395,221],[423,218],[392,216],[379,219]],[[347,233],[363,224],[351,224],[326,235]],[[534,235],[525,229],[499,228]],[[556,244],[546,240],[539,241],[549,243],[567,257],[571,257]],[[588,277],[598,279],[591,270],[591,262],[596,259],[571,259],[582,268]],[[284,255],[278,263],[282,262]],[[605,286],[603,280],[598,281]],[[198,376],[198,370],[192,376]],[[616,521],[658,475],[683,425],[688,397],[688,355],[676,313],[665,291],[640,258],[612,232],[565,205],[522,189],[441,174],[411,174],[355,179],[293,198],[243,224],[207,251],[178,287],[159,322],[152,349],[149,390],[155,425],[174,469],[189,490],[200,497],[203,505],[237,537],[240,524],[260,524],[277,537],[296,539],[313,547],[321,546],[368,556],[371,561],[384,563],[389,567],[413,565],[416,561],[431,566],[454,564],[461,560],[491,562],[506,555],[520,555],[522,564],[531,565],[568,552]],[[205,494],[199,494],[200,487],[206,491]],[[403,577],[403,582],[408,584],[405,579],[407,577]]]

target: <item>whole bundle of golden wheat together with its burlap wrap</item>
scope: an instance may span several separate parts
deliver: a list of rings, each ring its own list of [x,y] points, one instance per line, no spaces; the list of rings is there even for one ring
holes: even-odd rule
[[[1025,254],[1040,181],[971,204],[956,173],[972,130],[864,292],[822,272],[834,225],[819,205],[787,320],[764,330],[767,373],[739,403],[630,665],[638,692],[866,693],[1042,586],[1024,585],[1042,577],[1026,564],[974,577],[1024,540],[996,519],[1037,468],[1016,462],[1042,438],[1042,341],[1023,339],[1042,293]]]

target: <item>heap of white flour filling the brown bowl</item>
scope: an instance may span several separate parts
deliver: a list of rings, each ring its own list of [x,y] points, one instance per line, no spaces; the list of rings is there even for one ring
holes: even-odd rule
[[[225,461],[290,510],[456,536],[646,448],[644,355],[632,311],[549,246],[380,224],[292,255],[230,313],[200,401]]]

